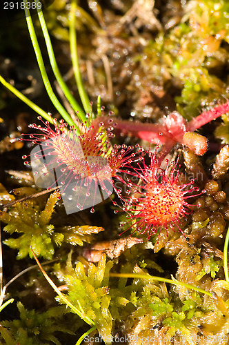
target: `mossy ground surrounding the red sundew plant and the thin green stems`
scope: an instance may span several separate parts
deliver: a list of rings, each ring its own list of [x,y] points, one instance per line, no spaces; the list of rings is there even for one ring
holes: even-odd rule
[[[57,62],[78,98],[70,68],[68,11],[65,0],[55,0],[45,15]],[[79,1],[79,63],[90,99],[95,102],[101,95],[106,110],[117,117],[150,123],[173,110],[190,120],[222,103],[229,87],[228,16],[226,0]],[[49,66],[39,30],[38,36]],[[1,75],[58,118],[43,88],[26,24],[2,22],[0,47]],[[31,145],[17,140],[21,132],[29,132],[28,124],[37,115],[3,88],[0,106],[4,205],[40,191],[21,159]],[[3,285],[35,264],[32,246],[41,262],[54,260],[44,266],[48,275],[81,317],[94,323],[90,344],[101,338],[106,344],[228,344],[229,283],[223,244],[229,220],[229,150],[222,148],[229,144],[228,124],[224,115],[199,129],[209,144],[201,158],[181,146],[171,152],[171,159],[180,154],[181,183],[195,178],[195,184],[206,189],[192,199],[192,215],[180,219],[186,237],[179,230],[162,228],[159,237],[133,243],[124,239],[128,230],[120,241],[119,226],[126,216],[115,214],[109,199],[96,206],[94,214],[83,210],[66,215],[57,192],[46,194],[2,208]],[[117,133],[114,143],[123,142],[148,147]],[[172,277],[211,295],[110,273]],[[76,344],[89,329],[70,308],[58,306],[36,267],[8,286],[5,298],[11,297],[14,303],[1,311],[1,344]]]

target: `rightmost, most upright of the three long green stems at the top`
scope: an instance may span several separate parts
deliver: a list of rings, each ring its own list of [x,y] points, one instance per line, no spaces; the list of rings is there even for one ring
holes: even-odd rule
[[[77,3],[75,0],[72,0],[71,8],[70,8],[70,26],[69,26],[69,39],[70,39],[70,52],[71,52],[71,57],[72,57],[72,66],[73,66],[73,71],[74,71],[74,77],[77,82],[79,96],[83,104],[83,108],[85,112],[91,112],[90,100],[83,86],[83,81],[81,79],[81,73],[79,70],[79,61],[78,61],[78,54],[77,54],[77,31],[75,28],[76,9],[77,9]]]

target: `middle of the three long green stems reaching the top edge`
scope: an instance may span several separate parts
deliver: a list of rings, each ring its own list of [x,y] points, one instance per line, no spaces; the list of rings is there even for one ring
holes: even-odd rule
[[[59,83],[59,86],[61,87],[61,90],[63,91],[63,94],[66,96],[66,98],[70,102],[70,105],[74,109],[74,112],[77,112],[77,116],[79,117],[79,119],[81,119],[81,121],[86,121],[85,113],[83,112],[83,110],[81,109],[81,107],[79,106],[77,101],[74,99],[74,97],[72,96],[72,94],[71,94],[66,82],[63,80],[63,77],[61,76],[61,73],[60,73],[59,68],[57,66],[57,60],[54,56],[54,51],[52,48],[50,35],[48,33],[48,29],[46,26],[46,21],[43,17],[43,12],[37,8],[37,13],[38,13],[39,21],[41,23],[41,29],[43,32],[43,37],[46,41],[46,47],[48,50],[48,57],[50,59],[50,65],[52,66],[52,71],[54,73],[54,76],[56,77],[57,82]]]

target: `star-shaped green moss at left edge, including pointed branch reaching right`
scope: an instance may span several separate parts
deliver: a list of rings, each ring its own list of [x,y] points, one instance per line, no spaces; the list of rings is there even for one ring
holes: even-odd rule
[[[50,224],[54,213],[54,206],[59,199],[59,192],[54,192],[46,203],[24,201],[17,203],[9,213],[1,212],[0,219],[8,225],[3,228],[10,233],[22,234],[16,238],[10,237],[3,242],[13,249],[17,249],[17,259],[27,255],[33,257],[32,250],[37,257],[52,259],[54,250],[63,242],[73,246],[83,246],[83,242],[90,242],[93,233],[99,233],[103,228],[97,226],[63,226],[61,228]],[[31,250],[32,248],[32,250]]]

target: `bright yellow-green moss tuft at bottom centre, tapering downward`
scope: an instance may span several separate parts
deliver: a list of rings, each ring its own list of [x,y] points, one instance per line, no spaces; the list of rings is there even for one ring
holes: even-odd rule
[[[68,299],[79,308],[83,315],[87,315],[94,321],[99,334],[106,342],[111,344],[108,339],[112,332],[112,315],[109,310],[109,275],[113,263],[106,264],[106,255],[101,257],[98,266],[89,264],[86,272],[83,264],[78,262],[73,269],[68,260],[68,271],[71,274],[64,275],[68,285]],[[59,302],[61,299],[57,298]]]

